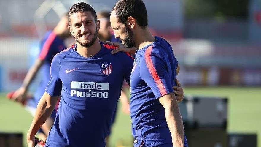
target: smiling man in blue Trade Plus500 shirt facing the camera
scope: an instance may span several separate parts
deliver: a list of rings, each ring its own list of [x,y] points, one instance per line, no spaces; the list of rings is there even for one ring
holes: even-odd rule
[[[133,58],[112,55],[115,46],[99,41],[100,22],[86,3],[69,10],[69,30],[76,45],[58,53],[51,64],[51,79],[27,134],[34,146],[37,130],[44,124],[61,96],[55,123],[45,146],[104,147],[122,83],[130,81]]]

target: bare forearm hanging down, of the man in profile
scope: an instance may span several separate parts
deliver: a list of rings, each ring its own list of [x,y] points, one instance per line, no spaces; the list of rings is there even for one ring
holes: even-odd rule
[[[174,104],[165,108],[165,116],[168,128],[171,132],[173,146],[184,146],[184,127],[179,110],[179,105]]]

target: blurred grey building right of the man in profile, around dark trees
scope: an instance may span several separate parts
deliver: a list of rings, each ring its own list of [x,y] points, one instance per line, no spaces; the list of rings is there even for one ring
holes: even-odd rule
[[[183,65],[178,76],[182,83],[261,85],[260,0],[249,0],[247,10],[246,19],[186,18],[183,34],[186,39],[172,42]]]

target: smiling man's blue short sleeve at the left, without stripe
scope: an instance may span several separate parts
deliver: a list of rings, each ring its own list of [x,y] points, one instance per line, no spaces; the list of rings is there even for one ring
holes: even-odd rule
[[[53,58],[51,63],[51,78],[45,91],[50,96],[59,96],[62,91],[62,81],[59,77],[60,60],[57,59],[57,55]]]

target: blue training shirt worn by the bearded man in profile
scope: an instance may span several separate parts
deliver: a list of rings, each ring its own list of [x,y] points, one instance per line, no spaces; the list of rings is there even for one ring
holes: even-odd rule
[[[155,39],[156,42],[136,51],[130,77],[134,147],[140,146],[142,141],[149,147],[172,146],[165,109],[158,98],[174,92],[172,86],[176,86],[178,61],[166,40],[157,36]]]

